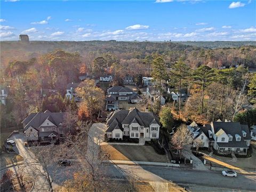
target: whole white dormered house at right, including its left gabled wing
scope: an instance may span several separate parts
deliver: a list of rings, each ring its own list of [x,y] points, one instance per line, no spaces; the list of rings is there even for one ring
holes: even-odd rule
[[[212,122],[199,127],[188,125],[194,139],[201,139],[202,147],[213,147],[219,154],[247,154],[251,135],[249,127],[239,122]]]

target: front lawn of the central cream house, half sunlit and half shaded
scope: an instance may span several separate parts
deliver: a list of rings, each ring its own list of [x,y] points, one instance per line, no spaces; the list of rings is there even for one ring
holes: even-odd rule
[[[158,155],[151,146],[102,145],[100,147],[110,154],[111,160],[167,162],[166,155]]]

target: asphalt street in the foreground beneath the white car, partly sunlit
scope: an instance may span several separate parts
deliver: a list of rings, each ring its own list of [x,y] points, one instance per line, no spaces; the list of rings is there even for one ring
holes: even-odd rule
[[[183,170],[180,168],[137,165],[110,165],[112,178],[134,174],[143,181],[171,181],[209,187],[256,191],[256,175],[238,174],[237,178],[223,177],[220,172]]]

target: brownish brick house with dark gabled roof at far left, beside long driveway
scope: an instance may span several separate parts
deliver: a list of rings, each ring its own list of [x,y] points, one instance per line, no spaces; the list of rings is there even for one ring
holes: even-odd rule
[[[65,113],[32,113],[22,121],[24,134],[27,141],[39,141],[42,143],[55,143],[64,137],[62,127]]]

